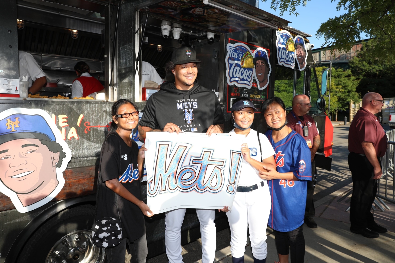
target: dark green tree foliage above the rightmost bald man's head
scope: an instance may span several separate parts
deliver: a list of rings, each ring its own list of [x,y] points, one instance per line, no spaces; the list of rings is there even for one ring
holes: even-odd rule
[[[350,61],[350,70],[357,77],[357,92],[361,96],[368,91],[380,93],[384,98],[395,95],[395,62],[381,60],[375,50],[380,46],[377,39],[363,43],[361,51]]]

